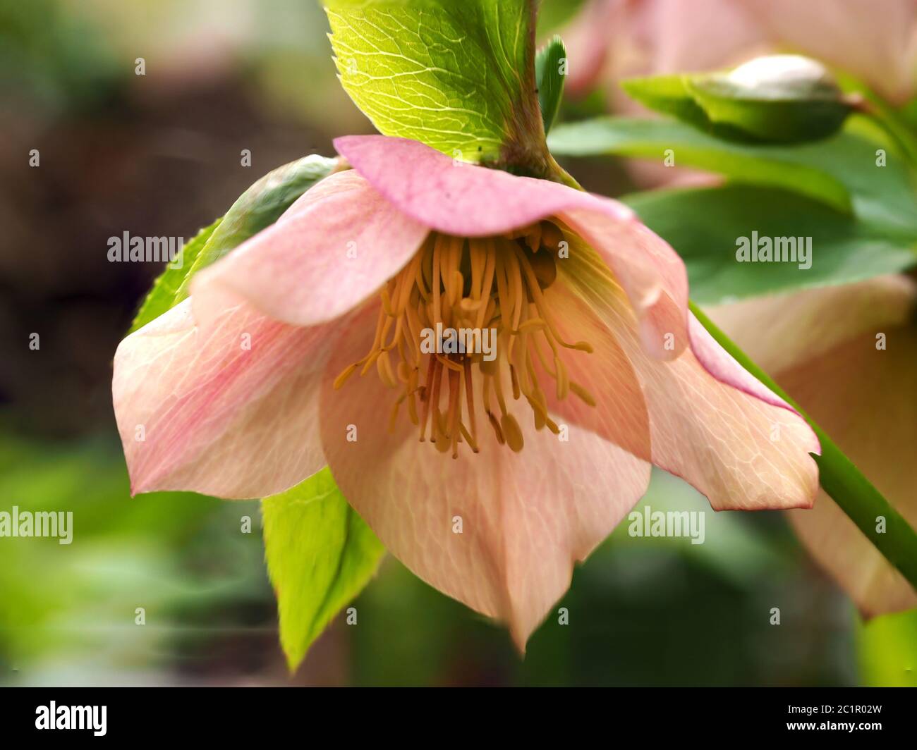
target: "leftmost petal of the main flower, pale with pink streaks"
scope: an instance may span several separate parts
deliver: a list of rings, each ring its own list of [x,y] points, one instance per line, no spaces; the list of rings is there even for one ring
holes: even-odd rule
[[[257,498],[321,469],[318,381],[334,324],[299,328],[238,305],[202,328],[192,304],[116,351],[112,394],[131,491]]]

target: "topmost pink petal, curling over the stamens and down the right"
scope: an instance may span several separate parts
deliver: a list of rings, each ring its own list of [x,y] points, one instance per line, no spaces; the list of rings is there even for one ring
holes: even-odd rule
[[[623,204],[452,160],[404,138],[348,136],[335,147],[398,210],[446,234],[486,237],[552,216],[566,221],[611,266],[638,312],[647,349],[669,358],[687,345],[684,264]],[[674,350],[663,346],[667,333]]]

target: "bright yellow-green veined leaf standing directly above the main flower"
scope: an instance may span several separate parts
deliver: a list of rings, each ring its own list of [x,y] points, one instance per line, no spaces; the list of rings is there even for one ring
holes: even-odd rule
[[[328,0],[337,72],[387,136],[540,176],[532,0]]]

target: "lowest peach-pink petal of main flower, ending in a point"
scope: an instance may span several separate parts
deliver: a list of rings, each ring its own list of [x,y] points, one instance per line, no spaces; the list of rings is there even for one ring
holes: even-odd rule
[[[566,443],[547,429],[535,433],[527,405],[515,407],[525,434],[519,454],[496,444],[482,411],[478,455],[463,444],[453,459],[420,443],[403,412],[389,433],[383,414],[397,392],[375,373],[339,391],[330,385],[369,349],[374,325],[372,314],[355,320],[326,372],[321,430],[332,473],[395,557],[436,589],[509,623],[523,649],[569,588],[573,563],[646,491],[649,467],[576,426]],[[457,517],[461,534],[453,531]]]

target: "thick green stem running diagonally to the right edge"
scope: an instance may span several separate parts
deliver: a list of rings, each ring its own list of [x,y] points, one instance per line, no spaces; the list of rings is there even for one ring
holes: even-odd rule
[[[878,551],[900,570],[904,578],[910,582],[911,587],[917,590],[917,533],[911,528],[911,524],[908,524],[905,518],[891,507],[882,493],[834,444],[834,440],[801,410],[799,404],[783,392],[779,385],[748,358],[746,353],[717,328],[694,303],[691,303],[691,312],[716,339],[717,343],[728,351],[742,367],[789,403],[809,423],[822,443],[822,455],[812,455],[815,463],[818,464],[822,489],[831,496],[838,507],[847,514]],[[884,517],[886,521],[884,534],[876,531],[879,516]]]

